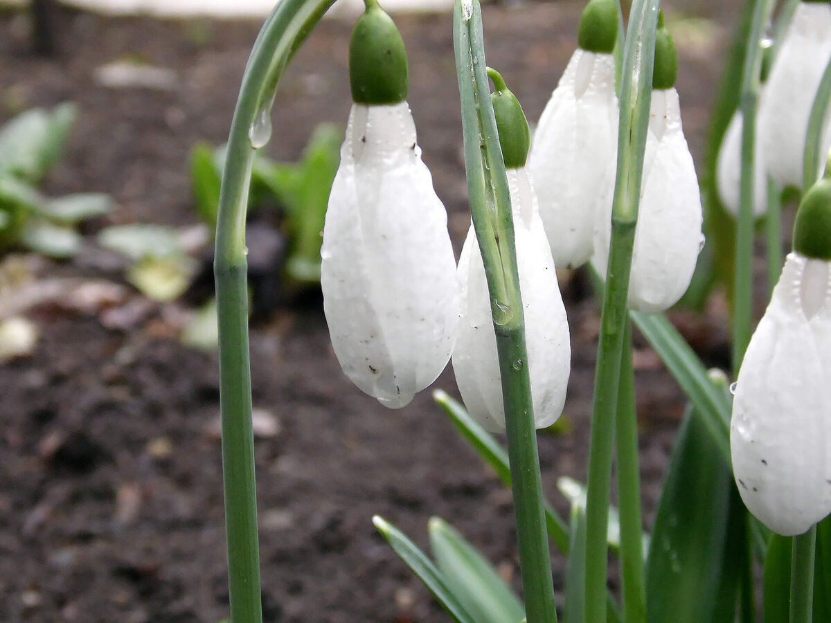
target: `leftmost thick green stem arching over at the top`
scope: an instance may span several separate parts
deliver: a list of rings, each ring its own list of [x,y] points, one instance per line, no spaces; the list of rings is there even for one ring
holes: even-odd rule
[[[270,104],[283,69],[334,0],[283,0],[254,43],[228,141],[216,229],[214,275],[219,320],[219,403],[231,621],[262,621],[257,490],[248,355],[245,213],[254,150],[248,130]]]

